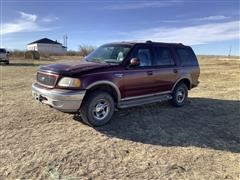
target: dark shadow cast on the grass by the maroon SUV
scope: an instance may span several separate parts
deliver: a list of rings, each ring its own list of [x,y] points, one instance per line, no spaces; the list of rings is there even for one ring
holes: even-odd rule
[[[240,152],[240,101],[189,98],[175,108],[155,103],[115,112],[97,131],[144,144]]]

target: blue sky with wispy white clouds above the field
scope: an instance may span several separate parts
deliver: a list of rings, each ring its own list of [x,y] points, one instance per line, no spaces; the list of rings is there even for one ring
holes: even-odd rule
[[[47,37],[68,50],[116,41],[190,45],[196,54],[240,55],[238,0],[0,0],[0,45],[26,49]]]

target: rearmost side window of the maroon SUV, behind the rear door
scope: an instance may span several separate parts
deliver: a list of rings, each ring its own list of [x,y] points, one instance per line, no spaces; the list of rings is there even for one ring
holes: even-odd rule
[[[191,48],[177,48],[182,66],[198,66],[197,58]]]

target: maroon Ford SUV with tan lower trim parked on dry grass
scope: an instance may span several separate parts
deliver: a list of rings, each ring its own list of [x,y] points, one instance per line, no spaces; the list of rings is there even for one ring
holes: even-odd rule
[[[191,47],[147,41],[105,44],[82,61],[40,67],[35,100],[62,112],[80,113],[92,126],[106,124],[115,108],[169,100],[183,106],[199,83]]]

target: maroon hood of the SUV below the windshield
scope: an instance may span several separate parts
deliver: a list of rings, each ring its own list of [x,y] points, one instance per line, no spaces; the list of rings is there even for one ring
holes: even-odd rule
[[[40,67],[41,71],[53,72],[62,75],[71,75],[92,69],[109,67],[107,63],[88,62],[85,60],[61,61],[55,64]]]

